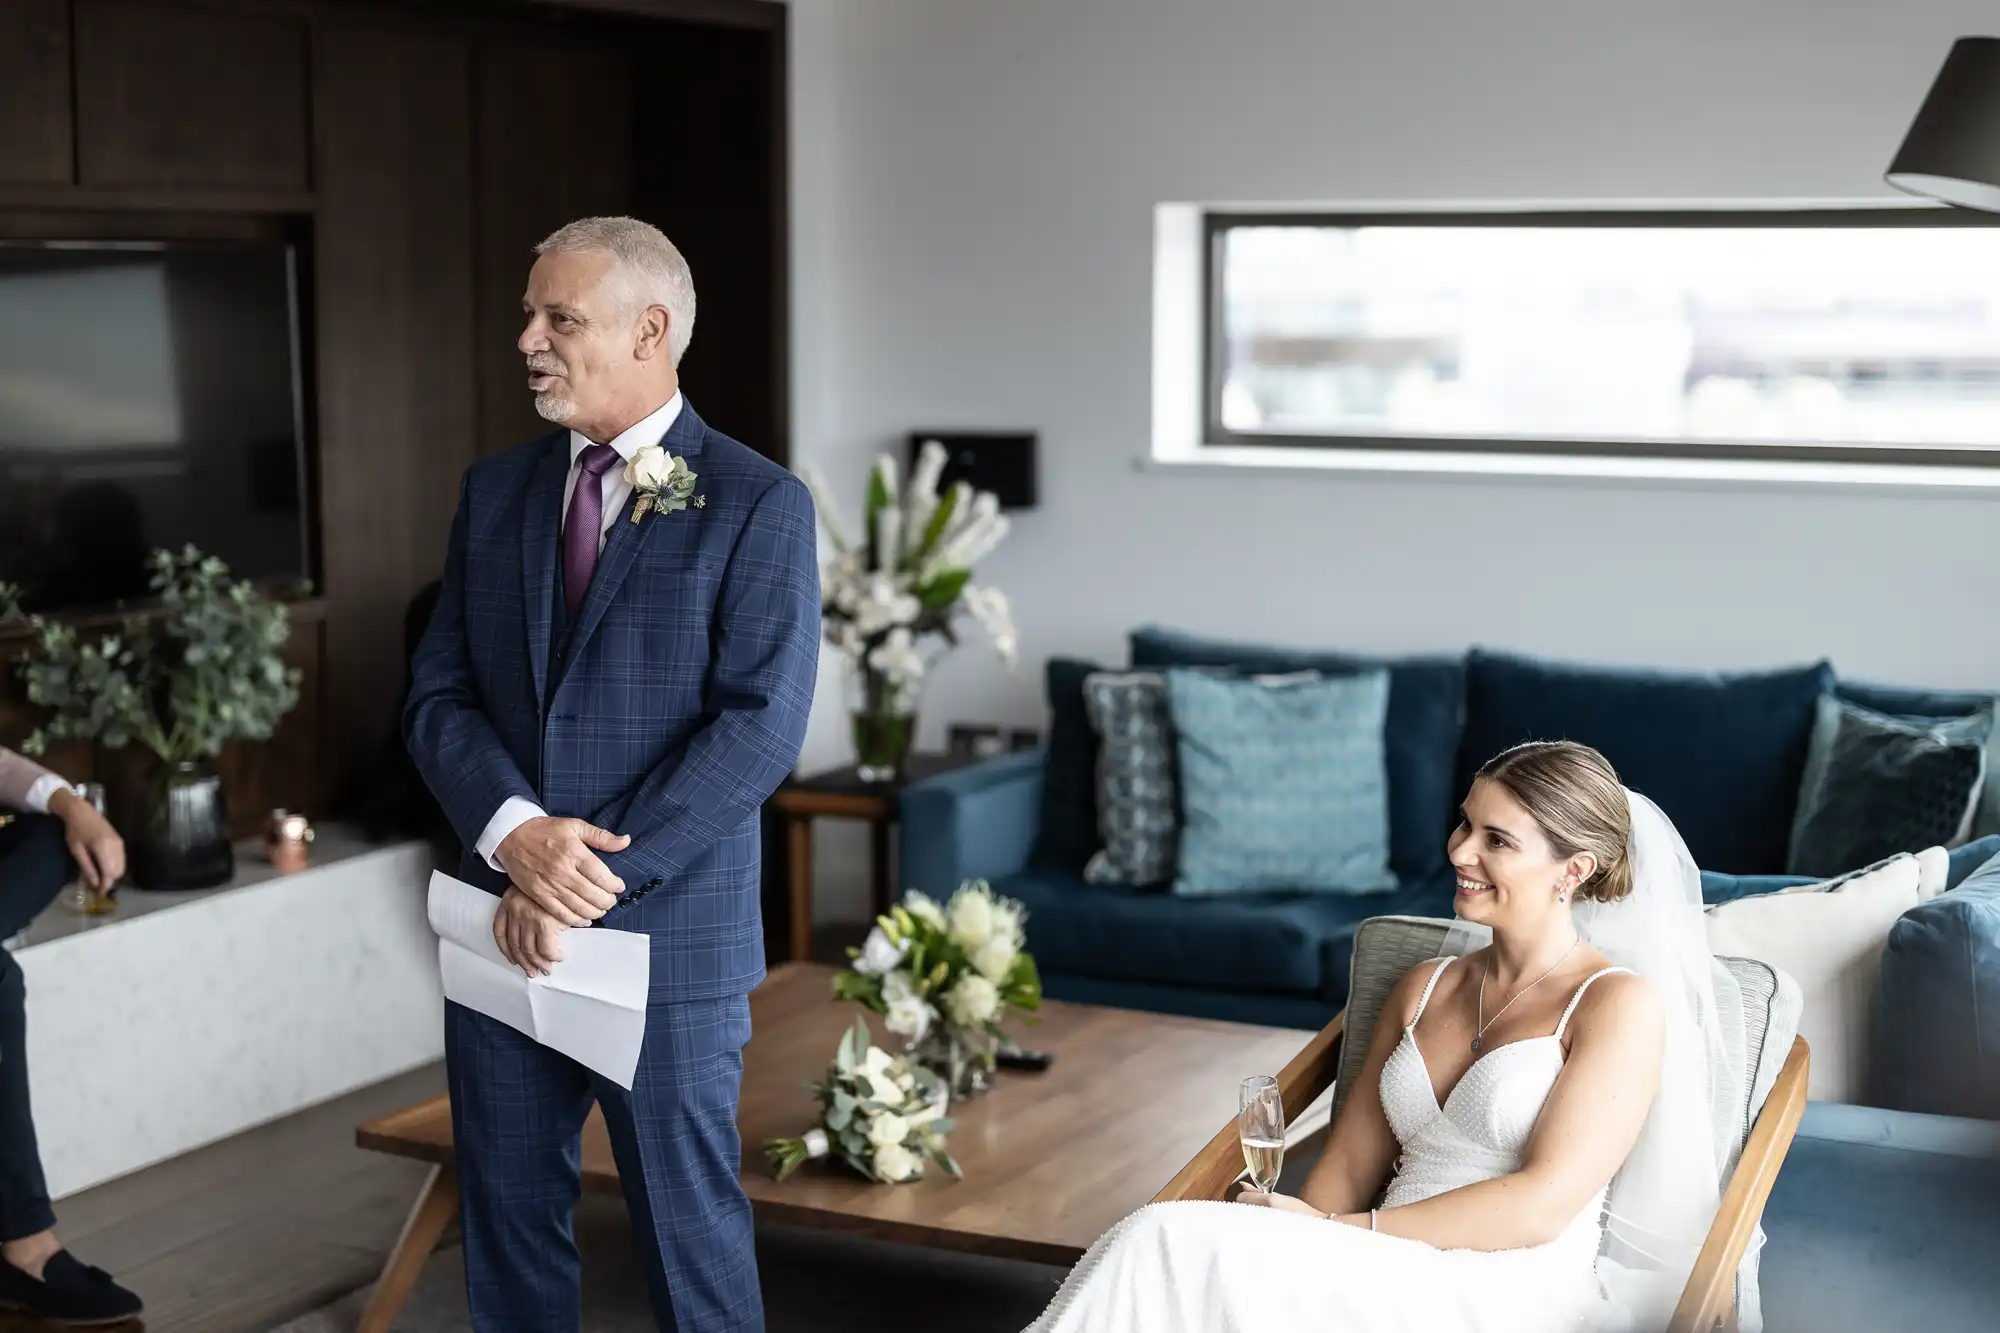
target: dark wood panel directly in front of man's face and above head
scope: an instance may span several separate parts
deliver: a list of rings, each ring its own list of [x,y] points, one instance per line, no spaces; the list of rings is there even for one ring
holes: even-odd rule
[[[550,114],[542,88],[588,114]],[[588,128],[586,128],[588,126]],[[534,246],[574,218],[632,212],[632,56],[502,36],[474,54],[480,452],[546,432],[514,350]]]

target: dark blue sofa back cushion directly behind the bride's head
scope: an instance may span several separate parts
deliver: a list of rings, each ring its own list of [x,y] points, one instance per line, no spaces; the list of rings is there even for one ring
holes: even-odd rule
[[[1784,871],[1826,662],[1758,673],[1572,666],[1474,648],[1458,789],[1522,741],[1580,741],[1652,797],[1694,863],[1732,875]]]

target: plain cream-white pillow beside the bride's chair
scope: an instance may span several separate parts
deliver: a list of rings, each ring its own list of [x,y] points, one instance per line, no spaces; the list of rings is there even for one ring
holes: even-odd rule
[[[1812,1047],[1812,1101],[1854,1103],[1868,1091],[1868,1027],[1882,945],[1922,901],[1924,873],[1904,853],[1862,875],[1708,909],[1708,951],[1758,959],[1798,981],[1798,1035]]]

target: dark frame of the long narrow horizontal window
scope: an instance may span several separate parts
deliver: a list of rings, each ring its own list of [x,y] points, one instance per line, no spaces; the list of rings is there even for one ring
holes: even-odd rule
[[[1254,448],[1340,452],[1390,452],[1404,456],[1482,454],[1514,458],[1612,458],[1632,462],[1796,462],[1796,464],[1888,464],[1894,468],[2000,468],[2000,444],[1990,448],[1924,448],[1882,444],[1774,444],[1756,440],[1662,440],[1662,438],[1536,438],[1458,434],[1304,434],[1270,430],[1230,430],[1222,422],[1222,368],[1226,334],[1222,328],[1222,242],[1240,226],[1888,226],[1938,228],[1978,226],[2000,230],[2000,214],[1970,208],[1928,206],[1784,206],[1784,208],[1356,208],[1356,210],[1200,210],[1200,430],[1202,450]]]

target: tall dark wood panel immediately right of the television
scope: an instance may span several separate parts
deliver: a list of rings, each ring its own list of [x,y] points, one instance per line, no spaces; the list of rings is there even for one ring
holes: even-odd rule
[[[314,80],[328,735],[354,771],[394,727],[404,608],[476,454],[470,52],[328,26]]]

